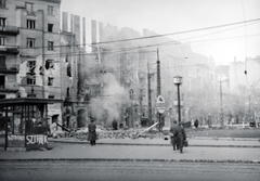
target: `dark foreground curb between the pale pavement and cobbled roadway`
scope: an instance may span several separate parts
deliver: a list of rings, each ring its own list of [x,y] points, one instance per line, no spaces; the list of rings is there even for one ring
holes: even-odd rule
[[[214,159],[129,159],[129,158],[24,158],[0,159],[1,161],[172,161],[172,163],[231,163],[231,164],[260,164],[260,160],[214,160]]]

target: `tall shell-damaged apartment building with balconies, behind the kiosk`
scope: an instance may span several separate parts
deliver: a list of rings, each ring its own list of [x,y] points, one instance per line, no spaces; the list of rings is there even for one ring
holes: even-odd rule
[[[0,98],[61,99],[61,0],[0,1]],[[61,104],[49,104],[49,124]]]

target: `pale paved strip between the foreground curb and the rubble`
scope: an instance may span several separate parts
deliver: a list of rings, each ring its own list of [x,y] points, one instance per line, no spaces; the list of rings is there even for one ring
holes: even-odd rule
[[[193,163],[252,163],[260,164],[258,139],[188,138],[184,153],[173,151],[170,140],[100,139],[95,146],[75,138],[49,138],[47,151],[0,151],[0,160],[143,160]]]

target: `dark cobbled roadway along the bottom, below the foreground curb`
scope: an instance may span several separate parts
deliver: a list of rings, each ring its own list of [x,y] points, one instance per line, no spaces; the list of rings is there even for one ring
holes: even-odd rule
[[[134,160],[1,161],[2,181],[15,180],[234,180],[259,181],[259,164]]]

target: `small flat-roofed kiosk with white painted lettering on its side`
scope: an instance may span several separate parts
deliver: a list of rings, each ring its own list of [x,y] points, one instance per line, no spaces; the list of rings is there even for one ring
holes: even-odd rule
[[[0,100],[1,144],[4,150],[30,150],[47,147],[48,104],[62,100],[15,98]]]

